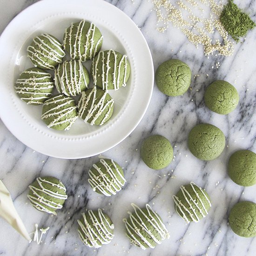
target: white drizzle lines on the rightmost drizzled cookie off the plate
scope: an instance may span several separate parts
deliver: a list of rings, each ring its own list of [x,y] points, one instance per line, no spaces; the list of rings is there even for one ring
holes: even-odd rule
[[[206,205],[202,202],[202,199],[198,195],[198,193],[196,192],[195,187],[200,190],[200,192],[202,193],[202,195],[204,196],[204,198],[208,202],[209,206],[211,207],[211,202],[209,201],[209,199],[208,199],[207,195],[205,194],[204,190],[201,187],[198,187],[194,182],[190,182],[190,186],[193,189],[193,191],[195,192],[196,198],[193,198],[189,194],[189,192],[185,189],[184,186],[181,186],[181,188],[180,188],[186,202],[189,204],[189,209],[182,203],[182,201],[179,199],[179,197],[177,197],[176,195],[173,195],[173,200],[174,200],[175,205],[176,205],[176,212],[187,223],[189,223],[190,221],[189,221],[188,217],[186,216],[186,214],[189,214],[189,217],[192,219],[193,222],[199,222],[200,221],[199,216],[196,214],[196,209],[200,212],[200,214],[202,215],[203,218],[208,215]],[[196,202],[196,199],[198,199],[198,201],[200,202],[200,205],[198,205],[198,203]],[[179,209],[179,211],[182,213],[182,215],[177,211],[177,209]]]

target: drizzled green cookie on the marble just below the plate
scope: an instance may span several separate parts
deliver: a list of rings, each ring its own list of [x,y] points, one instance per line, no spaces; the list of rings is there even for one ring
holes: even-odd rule
[[[126,182],[122,168],[112,159],[101,159],[92,166],[88,175],[93,190],[106,196],[115,195]]]

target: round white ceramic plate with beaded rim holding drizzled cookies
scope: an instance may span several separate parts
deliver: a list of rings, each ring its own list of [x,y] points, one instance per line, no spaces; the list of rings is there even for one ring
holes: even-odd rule
[[[125,88],[110,91],[114,114],[103,126],[77,119],[68,131],[49,129],[41,121],[42,106],[21,101],[14,92],[19,74],[32,67],[27,46],[42,32],[62,41],[71,22],[92,21],[103,34],[102,49],[128,55],[131,74]],[[124,140],[145,114],[154,84],[154,67],[147,42],[135,23],[103,0],[43,0],[16,16],[0,37],[0,117],[20,141],[34,150],[59,158],[100,154]],[[85,62],[87,68],[90,61]]]

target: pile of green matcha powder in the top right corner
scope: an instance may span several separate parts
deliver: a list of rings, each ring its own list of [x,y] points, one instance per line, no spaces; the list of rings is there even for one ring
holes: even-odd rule
[[[223,27],[237,42],[239,41],[239,37],[245,36],[250,29],[256,26],[248,14],[243,13],[233,3],[233,0],[229,0],[228,4],[224,6],[220,21]]]

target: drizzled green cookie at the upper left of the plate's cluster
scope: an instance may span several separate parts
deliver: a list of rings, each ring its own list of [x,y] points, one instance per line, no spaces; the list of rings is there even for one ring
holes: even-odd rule
[[[50,34],[36,36],[27,47],[27,54],[35,67],[52,70],[62,62],[65,56],[60,41]]]

